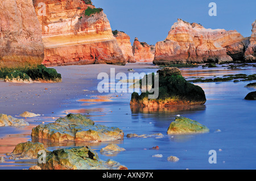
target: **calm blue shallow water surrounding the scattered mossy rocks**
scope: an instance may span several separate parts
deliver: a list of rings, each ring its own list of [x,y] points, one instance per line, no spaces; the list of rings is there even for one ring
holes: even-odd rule
[[[155,72],[157,69],[135,69],[140,72]],[[255,74],[253,67],[230,70],[225,68],[184,68],[184,77],[212,78],[226,74]],[[256,169],[256,101],[245,100],[247,93],[255,91],[245,88],[247,82],[196,83],[207,96],[204,106],[170,107],[166,109],[139,109],[130,107],[130,93],[106,94],[104,97],[81,97],[73,100],[65,110],[59,112],[87,113],[96,124],[121,128],[125,133],[122,141],[116,141],[125,148],[116,155],[104,155],[100,149],[109,144],[68,142],[51,144],[44,142],[49,150],[68,146],[90,145],[100,159],[114,159],[128,169]],[[118,97],[116,96],[118,95]],[[90,100],[88,100],[90,99]],[[191,135],[167,135],[167,128],[176,115],[188,117],[206,125],[209,133]],[[221,132],[216,132],[220,129]],[[126,138],[126,134],[162,133],[164,136],[149,138]],[[159,146],[159,150],[151,150]],[[221,149],[221,150],[219,150]],[[217,163],[210,164],[209,150],[217,151]],[[152,157],[162,154],[162,158]],[[167,157],[176,156],[179,162],[168,162]],[[13,161],[0,163],[0,169],[27,169],[36,161]],[[4,165],[3,165],[4,164]],[[8,167],[6,167],[8,166]]]

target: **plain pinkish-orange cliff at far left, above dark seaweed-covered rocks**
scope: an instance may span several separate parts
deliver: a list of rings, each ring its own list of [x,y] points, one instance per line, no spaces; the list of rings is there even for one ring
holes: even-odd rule
[[[42,31],[32,1],[0,1],[0,68],[42,63]]]

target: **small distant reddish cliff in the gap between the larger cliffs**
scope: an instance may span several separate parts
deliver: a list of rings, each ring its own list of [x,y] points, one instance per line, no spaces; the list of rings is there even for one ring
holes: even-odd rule
[[[135,37],[133,43],[133,54],[136,61],[152,62],[154,60],[154,45],[148,45],[146,42],[139,42]]]

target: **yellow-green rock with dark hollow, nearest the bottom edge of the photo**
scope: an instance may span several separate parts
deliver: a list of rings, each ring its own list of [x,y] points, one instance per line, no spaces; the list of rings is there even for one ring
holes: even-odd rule
[[[47,153],[46,163],[38,163],[42,170],[122,170],[127,167],[108,160],[102,161],[89,146],[65,148]]]

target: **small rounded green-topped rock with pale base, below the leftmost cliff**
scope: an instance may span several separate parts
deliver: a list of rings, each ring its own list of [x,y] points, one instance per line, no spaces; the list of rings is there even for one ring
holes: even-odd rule
[[[26,73],[14,70],[6,75],[5,82],[32,83],[32,79]]]

